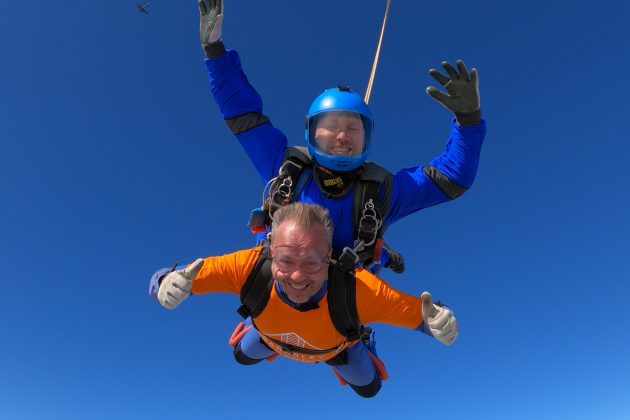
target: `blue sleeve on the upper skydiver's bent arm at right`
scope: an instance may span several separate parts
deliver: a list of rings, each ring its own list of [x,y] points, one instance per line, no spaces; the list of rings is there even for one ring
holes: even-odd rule
[[[394,175],[385,223],[391,224],[423,208],[450,201],[470,188],[477,174],[485,135],[485,120],[476,126],[460,126],[453,120],[442,154],[427,166],[406,168]]]

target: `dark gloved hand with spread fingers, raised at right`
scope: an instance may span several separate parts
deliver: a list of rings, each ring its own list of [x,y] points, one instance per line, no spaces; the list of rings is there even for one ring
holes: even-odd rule
[[[459,74],[448,61],[443,61],[442,67],[444,67],[449,77],[444,76],[435,69],[429,70],[429,74],[444,86],[449,94],[447,95],[433,86],[427,88],[427,93],[454,114],[471,114],[479,111],[477,69],[473,68],[469,75],[462,60],[457,60]]]

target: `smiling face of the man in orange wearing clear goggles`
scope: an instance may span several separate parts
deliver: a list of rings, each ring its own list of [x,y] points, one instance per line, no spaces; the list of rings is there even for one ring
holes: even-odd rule
[[[304,303],[328,278],[331,252],[323,227],[306,229],[286,220],[271,237],[271,273],[292,302]]]

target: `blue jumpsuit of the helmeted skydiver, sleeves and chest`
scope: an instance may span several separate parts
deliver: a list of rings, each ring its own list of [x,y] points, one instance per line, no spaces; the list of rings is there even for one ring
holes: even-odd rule
[[[278,175],[287,148],[286,136],[262,113],[262,99],[249,84],[234,50],[206,59],[210,88],[219,111],[256,167],[265,185]],[[426,167],[405,168],[393,175],[390,208],[384,223],[397,220],[426,207],[449,201],[466,191],[477,173],[486,123],[460,126],[451,122],[451,134],[442,154]],[[450,196],[449,196],[450,195]],[[341,198],[327,198],[313,177],[302,188],[297,201],[327,208],[334,223],[333,250],[340,253],[354,244],[352,189]]]

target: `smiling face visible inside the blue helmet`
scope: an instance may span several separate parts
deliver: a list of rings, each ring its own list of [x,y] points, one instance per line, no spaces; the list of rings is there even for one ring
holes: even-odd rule
[[[328,112],[317,120],[315,142],[327,155],[360,155],[365,143],[363,121],[352,112]]]

